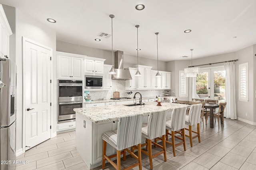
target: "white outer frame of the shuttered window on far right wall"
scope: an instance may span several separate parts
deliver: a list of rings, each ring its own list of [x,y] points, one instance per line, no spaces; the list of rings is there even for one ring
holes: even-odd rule
[[[245,70],[245,78],[246,78],[246,96],[245,97],[242,97],[241,96],[241,68],[242,67],[245,67],[246,68],[246,70]],[[239,101],[242,101],[242,102],[248,102],[248,63],[243,63],[243,64],[239,64],[239,67],[238,67],[238,72],[239,72],[239,74],[238,74],[238,100]]]

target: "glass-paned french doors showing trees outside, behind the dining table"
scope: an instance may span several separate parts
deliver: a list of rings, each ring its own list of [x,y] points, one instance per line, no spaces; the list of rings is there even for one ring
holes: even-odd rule
[[[225,82],[224,66],[201,69],[196,77],[197,98],[225,101]]]

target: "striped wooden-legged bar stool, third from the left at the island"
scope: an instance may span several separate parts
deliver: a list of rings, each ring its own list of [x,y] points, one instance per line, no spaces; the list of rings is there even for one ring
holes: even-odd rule
[[[185,140],[185,117],[186,117],[187,106],[177,107],[172,110],[172,118],[166,121],[166,143],[172,145],[173,156],[176,156],[175,148],[182,145],[186,151],[186,140]],[[180,132],[181,130],[181,132]],[[169,133],[169,131],[172,131]],[[182,135],[178,137],[175,133]],[[168,141],[168,135],[172,135],[172,142]],[[175,144],[175,139],[180,139],[182,142]],[[163,141],[164,143],[164,141]]]

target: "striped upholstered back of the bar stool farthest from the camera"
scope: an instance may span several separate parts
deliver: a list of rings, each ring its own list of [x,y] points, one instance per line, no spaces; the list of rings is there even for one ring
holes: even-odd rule
[[[202,104],[193,104],[188,112],[188,125],[196,125],[200,123]]]

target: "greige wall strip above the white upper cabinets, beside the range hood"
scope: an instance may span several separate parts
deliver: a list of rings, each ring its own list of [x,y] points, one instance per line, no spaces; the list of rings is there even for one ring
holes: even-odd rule
[[[104,64],[112,65],[111,51],[71,44],[63,41],[56,41],[56,51],[62,51],[66,53],[80,54],[80,55],[86,55],[89,57],[106,59]],[[160,71],[166,71],[166,63],[167,62],[159,61]],[[137,56],[124,54],[124,68],[130,67],[136,64],[137,64]],[[152,66],[152,70],[157,70],[157,60],[139,57],[139,64],[145,65],[145,66]]]

